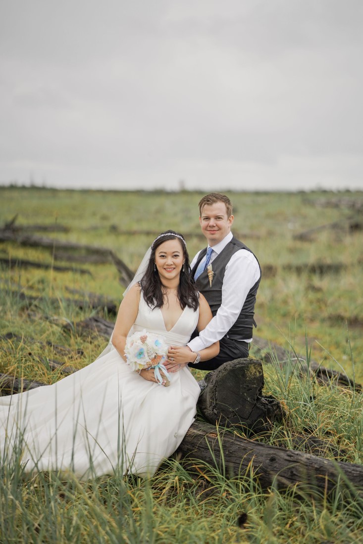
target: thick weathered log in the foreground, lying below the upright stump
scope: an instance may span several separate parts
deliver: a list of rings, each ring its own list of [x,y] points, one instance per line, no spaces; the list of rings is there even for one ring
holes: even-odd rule
[[[218,431],[214,425],[196,421],[181,442],[178,452],[190,459],[190,467],[198,460],[217,466],[226,474],[250,474],[251,467],[262,487],[275,483],[279,489],[297,484],[305,490],[330,492],[338,478],[347,479],[363,489],[363,467],[350,463],[329,461],[314,455],[268,446],[242,438],[229,431]]]

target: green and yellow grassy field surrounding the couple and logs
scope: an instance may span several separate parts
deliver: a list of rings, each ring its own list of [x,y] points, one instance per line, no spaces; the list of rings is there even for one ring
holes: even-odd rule
[[[263,270],[256,334],[298,353],[311,350],[314,360],[343,368],[362,383],[363,231],[352,202],[362,203],[363,193],[228,194],[234,204],[232,230]],[[17,226],[64,225],[66,232],[37,234],[110,248],[136,269],[154,232],[172,228],[185,234],[191,257],[205,245],[198,223],[201,196],[0,188],[0,227],[16,214]],[[295,237],[332,223],[308,240]],[[56,256],[54,248],[0,243],[0,258],[70,265]],[[3,266],[0,335],[12,331],[50,345],[2,341],[0,372],[52,383],[61,377],[44,362],[59,358],[53,344],[70,348],[63,359],[77,368],[100,353],[104,339],[89,341],[64,330],[65,323],[94,313],[66,302],[68,289],[119,302],[125,286],[112,263],[75,266],[90,274]],[[27,311],[19,289],[43,301]],[[84,355],[78,355],[80,348]],[[362,463],[361,395],[297,380],[288,367],[266,366],[264,372],[266,392],[285,402],[289,418],[275,435],[256,440],[274,443],[283,436],[288,446],[289,433],[310,429],[342,450],[341,460]],[[302,497],[296,490],[266,491],[251,474],[229,479],[216,467],[201,466],[191,475],[177,460],[166,462],[150,481],[115,475],[80,483],[71,475],[66,481],[54,474],[27,478],[3,468],[0,486],[0,542],[361,541],[362,497],[354,490],[344,494],[337,486],[330,500],[319,494]]]

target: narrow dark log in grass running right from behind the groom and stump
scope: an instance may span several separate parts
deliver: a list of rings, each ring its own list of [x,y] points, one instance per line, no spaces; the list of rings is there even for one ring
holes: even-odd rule
[[[279,344],[268,342],[264,338],[258,336],[253,337],[252,343],[260,350],[259,357],[261,357],[264,363],[277,361],[280,365],[283,365],[291,361],[301,376],[306,376],[307,374],[315,376],[319,385],[334,384],[338,387],[352,388],[357,392],[363,391],[361,384],[356,384],[343,372],[323,367],[316,361],[310,361],[309,366],[307,366],[306,357],[304,355],[299,354],[297,356],[291,351],[282,348]]]

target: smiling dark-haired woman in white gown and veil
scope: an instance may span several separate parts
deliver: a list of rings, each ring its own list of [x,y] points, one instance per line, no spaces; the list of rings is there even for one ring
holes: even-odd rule
[[[187,363],[219,352],[218,342],[198,354],[186,347],[212,315],[192,281],[184,237],[161,233],[126,291],[111,342],[93,363],[56,384],[0,397],[0,465],[20,455],[28,473],[152,475],[178,448],[200,392]],[[170,379],[164,374],[161,384],[154,370],[126,364],[126,338],[144,329],[168,344]]]

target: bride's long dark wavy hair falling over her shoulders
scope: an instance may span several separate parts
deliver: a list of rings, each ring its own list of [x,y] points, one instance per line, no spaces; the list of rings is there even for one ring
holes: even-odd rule
[[[158,270],[155,270],[154,263],[155,251],[159,248],[159,245],[164,244],[164,242],[167,242],[167,240],[179,240],[181,248],[183,248],[184,271],[183,269],[180,270],[180,280],[178,286],[178,299],[180,302],[180,307],[184,310],[185,306],[188,306],[196,311],[197,307],[199,306],[198,292],[191,275],[189,255],[186,250],[185,239],[184,236],[178,232],[162,232],[157,238],[155,238],[151,248],[152,252],[146,272],[140,280],[143,297],[150,308],[161,308],[161,306],[164,304],[162,283],[160,281]]]

